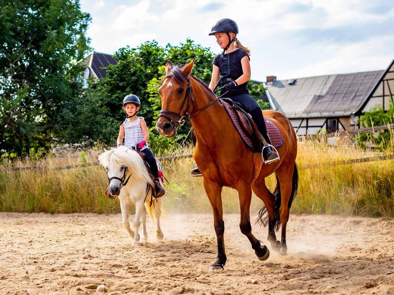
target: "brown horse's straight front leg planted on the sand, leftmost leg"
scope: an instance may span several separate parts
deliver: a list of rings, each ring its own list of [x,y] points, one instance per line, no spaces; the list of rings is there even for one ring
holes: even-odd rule
[[[225,223],[223,221],[222,186],[203,177],[204,188],[212,206],[213,220],[216,239],[218,243],[217,260],[209,267],[209,270],[224,269],[227,261],[225,251]]]

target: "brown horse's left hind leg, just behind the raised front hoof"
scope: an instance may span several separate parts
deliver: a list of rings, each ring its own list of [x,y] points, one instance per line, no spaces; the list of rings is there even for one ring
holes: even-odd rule
[[[279,251],[280,241],[276,240],[275,235],[275,196],[268,190],[265,185],[265,179],[258,179],[252,184],[252,190],[256,196],[264,203],[268,216],[268,236],[267,240],[271,243],[272,249]],[[265,220],[264,220],[265,221]],[[266,222],[266,221],[265,221]],[[264,222],[264,226],[266,223]]]

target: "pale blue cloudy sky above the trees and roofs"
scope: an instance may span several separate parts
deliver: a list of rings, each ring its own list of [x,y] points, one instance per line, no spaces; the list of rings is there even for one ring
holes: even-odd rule
[[[394,59],[392,0],[81,0],[81,9],[92,16],[91,46],[108,54],[187,38],[219,54],[208,33],[231,18],[258,81],[380,70]]]

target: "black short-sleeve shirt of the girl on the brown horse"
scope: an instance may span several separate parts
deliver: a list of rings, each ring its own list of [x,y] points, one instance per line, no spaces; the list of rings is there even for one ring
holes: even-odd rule
[[[246,56],[250,60],[248,53],[245,50],[237,49],[227,54],[221,53],[213,59],[212,64],[219,67],[220,75],[223,77],[221,86],[229,83],[230,79],[238,79],[243,74],[241,59]],[[221,94],[224,92],[224,90],[221,90]],[[237,87],[229,91],[228,95],[238,95],[243,93],[249,94],[249,91],[247,89],[247,83],[238,85]]]

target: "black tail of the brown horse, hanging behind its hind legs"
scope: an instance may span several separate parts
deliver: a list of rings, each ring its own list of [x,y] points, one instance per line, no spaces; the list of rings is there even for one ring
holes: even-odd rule
[[[272,223],[274,226],[275,231],[279,230],[280,227],[280,214],[279,214],[279,209],[280,205],[282,202],[282,196],[280,193],[280,183],[279,183],[279,178],[278,175],[275,173],[276,177],[276,187],[273,193],[269,192],[272,197],[275,200],[275,205],[274,205],[274,218],[272,219]],[[296,197],[298,190],[298,169],[296,163],[294,163],[294,170],[293,170],[293,178],[292,178],[292,192],[290,194],[289,202],[287,204],[288,208],[292,206],[293,200]],[[267,226],[268,224],[268,215],[267,213],[267,208],[264,206],[263,208],[260,209],[259,211],[259,217],[257,219],[257,223],[262,224],[264,227]]]

